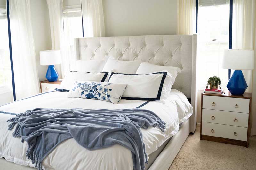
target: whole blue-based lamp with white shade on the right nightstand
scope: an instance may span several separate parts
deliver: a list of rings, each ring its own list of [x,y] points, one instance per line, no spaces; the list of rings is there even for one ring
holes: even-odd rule
[[[236,69],[227,84],[227,88],[232,95],[244,94],[248,86],[241,70],[253,70],[253,66],[253,50],[224,50],[222,68]]]

